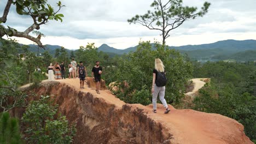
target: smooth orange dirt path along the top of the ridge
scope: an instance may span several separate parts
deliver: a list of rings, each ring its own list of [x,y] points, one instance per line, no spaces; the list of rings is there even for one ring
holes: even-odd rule
[[[97,94],[94,89],[85,86],[85,89],[80,88],[79,79],[66,79],[58,80],[59,82],[66,83],[78,91],[90,92],[95,97],[103,98],[110,104],[117,106],[117,109],[125,104],[118,98],[115,98],[110,91],[100,91],[101,94]],[[197,81],[196,88],[199,89],[204,84],[200,80]],[[160,122],[171,134],[173,134],[172,143],[226,143],[223,139],[229,137],[237,131],[238,128],[234,127],[234,123],[237,123],[234,119],[223,117],[217,114],[203,113],[194,110],[177,110],[171,105],[171,112],[164,114],[164,107],[158,104],[158,113],[152,112],[152,105],[143,106],[141,104],[132,104],[132,106],[144,109],[148,112],[148,116],[157,122]],[[238,125],[240,126],[240,125]],[[237,127],[238,127],[237,126]]]

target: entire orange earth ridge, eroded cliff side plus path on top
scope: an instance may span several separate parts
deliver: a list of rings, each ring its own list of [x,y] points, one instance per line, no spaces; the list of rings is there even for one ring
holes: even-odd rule
[[[234,119],[173,107],[164,115],[161,105],[158,113],[152,113],[151,105],[125,104],[107,90],[96,95],[93,89],[71,85],[72,81],[44,82],[24,91],[55,95],[59,113],[77,123],[74,143],[253,143]],[[21,117],[24,109],[12,112]]]

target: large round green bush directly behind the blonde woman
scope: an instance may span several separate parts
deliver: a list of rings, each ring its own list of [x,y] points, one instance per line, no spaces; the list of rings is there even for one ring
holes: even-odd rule
[[[125,100],[126,103],[148,104],[149,101],[146,100],[147,102],[145,102],[145,99],[139,101],[133,92],[143,90],[143,93],[146,94],[143,97],[152,99],[150,91],[155,58],[161,58],[165,65],[168,79],[165,96],[167,103],[180,103],[185,91],[185,83],[187,83],[192,72],[191,63],[178,51],[170,50],[167,46],[162,46],[158,43],[140,42],[135,52],[117,58],[116,67],[109,69],[106,74],[106,77],[110,77],[110,79],[107,79],[107,83],[113,81],[123,83],[125,81],[129,87],[120,85],[119,89],[124,89],[124,92],[119,92],[117,96]],[[148,92],[145,93],[145,91]]]

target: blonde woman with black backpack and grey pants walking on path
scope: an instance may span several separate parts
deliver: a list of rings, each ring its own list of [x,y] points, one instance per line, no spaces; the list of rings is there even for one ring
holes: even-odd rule
[[[156,100],[158,98],[162,102],[162,104],[165,107],[165,113],[170,112],[170,109],[166,103],[165,100],[165,85],[166,85],[167,79],[165,76],[165,66],[162,63],[160,58],[155,59],[155,68],[153,70],[153,80],[152,80],[152,103],[153,103],[153,112],[156,113]]]

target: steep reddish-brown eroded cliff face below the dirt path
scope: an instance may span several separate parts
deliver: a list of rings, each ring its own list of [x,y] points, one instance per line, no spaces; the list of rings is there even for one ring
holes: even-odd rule
[[[148,118],[142,109],[129,104],[117,107],[65,83],[44,83],[29,93],[55,95],[59,112],[70,123],[77,123],[74,143],[168,143],[171,139],[170,134],[163,134],[162,125]]]

